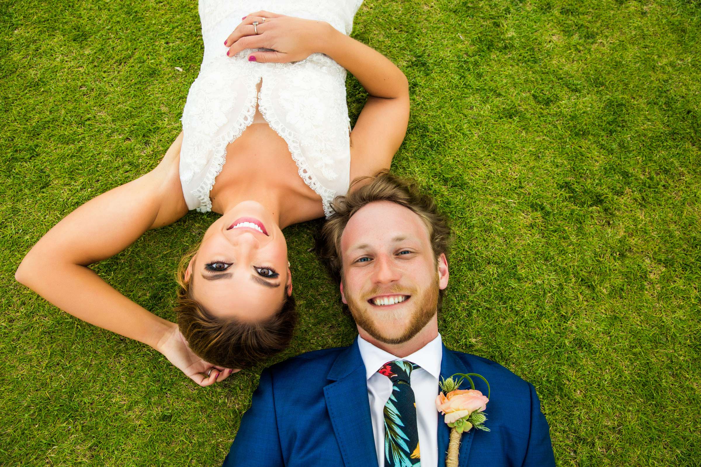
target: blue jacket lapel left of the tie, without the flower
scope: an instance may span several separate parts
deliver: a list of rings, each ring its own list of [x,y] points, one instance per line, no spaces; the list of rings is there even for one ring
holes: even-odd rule
[[[324,387],[324,396],[343,463],[346,467],[377,466],[365,365],[357,337],[336,358],[328,378],[334,382]]]

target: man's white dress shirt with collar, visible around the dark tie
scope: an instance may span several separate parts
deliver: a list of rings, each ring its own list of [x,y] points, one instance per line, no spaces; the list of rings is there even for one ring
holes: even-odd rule
[[[367,375],[367,397],[370,402],[372,433],[375,438],[377,464],[385,465],[385,419],[383,410],[392,393],[392,382],[377,372],[389,361],[406,360],[421,368],[411,372],[411,389],[416,400],[416,423],[418,424],[418,447],[421,467],[437,467],[438,464],[438,411],[435,400],[438,395],[438,378],[443,358],[440,334],[423,348],[404,358],[398,358],[378,349],[358,336],[360,356],[365,363]]]

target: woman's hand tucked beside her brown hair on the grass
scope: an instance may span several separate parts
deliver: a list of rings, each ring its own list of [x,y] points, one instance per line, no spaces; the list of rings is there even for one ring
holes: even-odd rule
[[[163,336],[161,342],[158,342],[156,350],[165,355],[165,358],[168,358],[170,363],[182,370],[200,386],[215,384],[215,382],[222,381],[229,377],[231,373],[238,371],[212,365],[212,363],[204,361],[193,354],[175,323],[173,323],[172,329]]]

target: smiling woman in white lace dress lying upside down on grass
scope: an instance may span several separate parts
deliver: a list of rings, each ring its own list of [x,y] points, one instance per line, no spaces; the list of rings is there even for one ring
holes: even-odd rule
[[[287,347],[297,315],[282,229],[329,216],[351,180],[388,169],[409,118],[402,71],[348,36],[360,1],[275,2],[285,15],[250,5],[200,0],[205,50],[182,132],[151,172],[57,223],[15,274],[73,316],[161,351],[201,386]],[[369,95],[352,130],[346,70]],[[183,258],[177,324],[88,267],[190,209],[222,216]]]

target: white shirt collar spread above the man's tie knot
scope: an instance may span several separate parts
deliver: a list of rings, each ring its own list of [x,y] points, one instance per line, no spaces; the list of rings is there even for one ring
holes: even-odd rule
[[[370,377],[388,361],[395,360],[406,360],[411,363],[416,363],[416,365],[428,371],[430,375],[436,379],[440,377],[440,364],[443,359],[443,343],[440,333],[434,340],[428,342],[428,344],[421,347],[421,349],[418,349],[413,354],[407,355],[404,358],[399,358],[389,352],[378,349],[373,344],[360,337],[360,335],[358,336],[358,349],[360,349],[362,363],[365,364],[366,379],[370,379]]]

